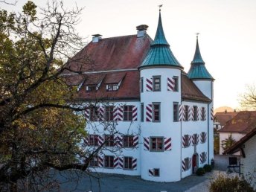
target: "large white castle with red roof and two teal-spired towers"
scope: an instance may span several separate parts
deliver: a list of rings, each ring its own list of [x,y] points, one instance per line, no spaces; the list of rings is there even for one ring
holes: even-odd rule
[[[137,30],[137,35],[106,39],[95,35],[66,66],[81,74],[63,75],[78,86],[78,99],[88,106],[89,149],[107,141],[109,150],[92,161],[92,171],[176,182],[214,158],[214,78],[197,37],[191,68],[183,71],[165,39],[161,13],[154,40],[147,25]],[[115,124],[117,135],[106,132],[104,120]]]

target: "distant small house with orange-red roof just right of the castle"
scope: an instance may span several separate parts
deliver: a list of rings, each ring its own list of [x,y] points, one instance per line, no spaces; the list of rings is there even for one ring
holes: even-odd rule
[[[217,112],[214,115],[214,129],[220,130],[225,126],[225,124],[234,118],[234,116],[237,115],[237,112]]]

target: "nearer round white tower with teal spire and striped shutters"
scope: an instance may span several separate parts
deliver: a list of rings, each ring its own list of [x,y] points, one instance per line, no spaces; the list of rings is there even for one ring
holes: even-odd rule
[[[141,178],[157,182],[181,179],[182,65],[174,57],[159,23],[150,51],[138,68],[141,76]]]

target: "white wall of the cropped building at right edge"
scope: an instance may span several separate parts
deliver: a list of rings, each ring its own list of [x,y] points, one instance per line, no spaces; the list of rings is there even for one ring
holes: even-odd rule
[[[256,190],[256,135],[254,135],[252,138],[250,138],[245,143],[244,152],[246,154],[246,158],[241,157],[240,161],[241,164],[241,172],[243,175],[248,178],[248,176],[252,176],[252,181],[249,181],[252,183],[252,186]]]

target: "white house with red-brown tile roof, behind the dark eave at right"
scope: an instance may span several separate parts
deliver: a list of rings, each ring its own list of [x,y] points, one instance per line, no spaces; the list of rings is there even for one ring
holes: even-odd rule
[[[250,132],[256,126],[256,112],[255,111],[243,111],[238,112],[234,118],[228,121],[225,126],[220,129],[220,154],[223,154],[223,148],[221,146],[222,141],[231,135],[235,141],[239,141],[240,138]]]

